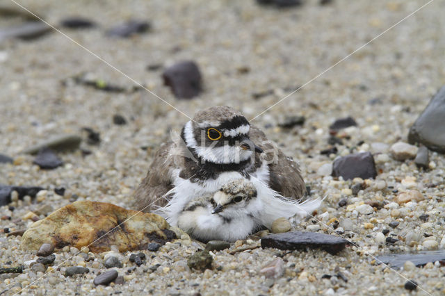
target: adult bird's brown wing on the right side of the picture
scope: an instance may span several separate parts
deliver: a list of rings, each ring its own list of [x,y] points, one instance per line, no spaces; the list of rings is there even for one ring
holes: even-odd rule
[[[284,155],[275,143],[255,126],[250,127],[250,140],[264,150],[269,163],[269,186],[284,197],[302,199],[306,193],[305,181],[298,164]]]

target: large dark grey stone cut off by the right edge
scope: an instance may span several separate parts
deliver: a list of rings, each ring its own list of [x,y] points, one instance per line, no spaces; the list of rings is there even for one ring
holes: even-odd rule
[[[445,86],[419,115],[408,133],[408,142],[420,142],[428,149],[445,153]]]

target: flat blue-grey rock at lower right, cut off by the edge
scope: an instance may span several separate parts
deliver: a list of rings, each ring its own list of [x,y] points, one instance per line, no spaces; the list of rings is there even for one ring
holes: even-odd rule
[[[402,268],[406,261],[411,261],[417,267],[426,265],[428,262],[435,263],[436,261],[445,260],[445,249],[439,251],[422,251],[416,254],[388,254],[378,256],[378,262],[382,261],[393,268]]]

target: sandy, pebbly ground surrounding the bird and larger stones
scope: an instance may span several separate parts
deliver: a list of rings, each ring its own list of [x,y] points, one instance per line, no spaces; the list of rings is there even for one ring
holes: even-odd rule
[[[51,24],[73,15],[97,22],[99,26],[91,30],[63,29],[63,32],[187,115],[192,116],[201,108],[227,104],[252,118],[289,93],[288,88],[311,80],[426,1],[334,0],[327,6],[307,1],[300,8],[288,10],[265,8],[247,0],[125,3],[29,0],[20,3]],[[15,7],[8,0],[0,4]],[[234,256],[217,252],[215,264],[222,266],[222,270],[200,274],[184,268],[184,258],[194,252],[197,245],[179,241],[162,247],[154,254],[156,257],[148,257],[145,266],[129,274],[125,272],[133,263],[127,262],[128,254],[121,254],[125,265],[119,272],[126,275],[122,285],[95,288],[92,279],[99,270],[104,270],[103,260],[101,255],[90,254],[96,260],[86,263],[90,273],[85,277],[63,277],[65,266],[78,265],[83,260],[75,256],[61,265],[62,270],[46,274],[25,270],[18,277],[2,276],[0,292],[13,287],[8,295],[20,291],[36,295],[57,295],[60,291],[81,295],[118,292],[123,295],[400,295],[410,293],[403,288],[408,278],[419,283],[419,294],[423,293],[421,288],[433,295],[444,293],[445,270],[439,265],[394,272],[377,265],[369,255],[423,249],[426,238],[421,235],[419,245],[414,247],[403,240],[395,245],[378,245],[376,233],[388,229],[389,222],[394,220],[400,222],[399,226],[389,229],[396,236],[405,238],[410,231],[428,232],[437,241],[435,248],[441,247],[439,242],[445,234],[439,224],[443,223],[444,210],[443,155],[430,154],[432,169],[426,172],[417,169],[412,161],[401,163],[382,157],[377,163],[378,178],[370,181],[369,188],[357,197],[348,191],[352,181],[334,181],[330,176],[316,174],[318,167],[331,163],[334,157],[321,156],[319,152],[328,147],[328,126],[336,118],[351,115],[358,123],[357,128],[346,131],[350,140],[338,145],[340,155],[348,154],[351,147],[353,151],[375,153],[371,149],[373,143],[392,145],[398,140],[406,141],[410,125],[445,80],[444,8],[442,1],[433,1],[252,121],[300,163],[314,196],[327,195],[320,211],[327,211],[325,219],[337,217],[343,228],[346,225],[342,221],[346,218],[353,221],[346,233],[359,247],[348,247],[337,256],[313,250],[285,254],[274,249],[255,249]],[[130,18],[149,20],[152,31],[129,39],[104,35],[107,28]],[[0,19],[0,26],[18,22]],[[134,83],[60,33],[30,42],[8,40],[0,43],[0,53],[0,152],[15,158],[15,165],[0,165],[0,183],[42,186],[49,190],[37,204],[15,204],[17,209],[12,213],[8,206],[3,206],[2,215],[11,215],[13,220],[42,204],[54,208],[68,204],[69,199],[52,192],[61,186],[79,199],[125,206],[146,173],[151,147],[168,140],[170,129],[179,130],[188,120],[145,91],[116,94],[70,81],[63,84],[82,72],[94,73],[104,81],[129,88]],[[166,66],[184,59],[195,60],[204,77],[204,92],[191,101],[175,99],[162,85],[162,69],[151,72],[146,69],[147,65]],[[243,73],[244,68],[250,71]],[[261,99],[252,98],[252,94],[266,90],[275,91]],[[377,103],[370,104],[371,100]],[[115,113],[124,115],[129,123],[113,125]],[[289,115],[304,115],[305,125],[294,129],[277,127]],[[92,151],[89,156],[82,156],[80,151],[63,154],[63,167],[44,171],[32,164],[32,156],[20,154],[26,147],[51,135],[81,133],[83,126],[101,133],[99,146],[83,143],[83,148]],[[357,147],[361,141],[364,145]],[[149,149],[145,151],[141,147]],[[426,199],[408,207],[401,206],[399,216],[391,217],[391,208],[362,215],[353,208],[337,205],[342,198],[357,205],[375,199],[392,202],[396,197],[394,188],[407,189],[401,182],[407,176],[416,177],[410,186],[421,191]],[[385,182],[383,186],[382,182]],[[436,186],[429,188],[428,183]],[[430,215],[428,225],[419,220],[419,215],[424,213]],[[379,222],[373,220],[375,226],[365,229],[364,223],[372,218]],[[12,229],[26,227],[31,222],[21,223],[0,221],[1,228]],[[305,229],[310,224],[316,222],[309,220],[295,225],[295,229]],[[320,231],[330,233],[323,225]],[[35,258],[34,254],[19,249],[20,237],[6,238],[3,233],[0,236],[0,266],[20,265]],[[286,272],[274,283],[266,281],[259,270],[275,256],[283,257]],[[56,265],[63,263],[64,258],[70,258],[70,252],[58,254]],[[97,264],[93,266],[92,262]],[[161,264],[156,272],[147,270],[156,263]],[[338,270],[346,274],[348,282],[321,279],[323,274],[336,274]]]

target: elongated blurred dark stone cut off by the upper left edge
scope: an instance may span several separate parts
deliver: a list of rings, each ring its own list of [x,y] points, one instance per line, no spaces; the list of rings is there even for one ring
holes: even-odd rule
[[[3,28],[0,30],[1,40],[8,38],[19,38],[22,40],[33,40],[50,33],[51,27],[44,22],[26,22],[18,26]]]

